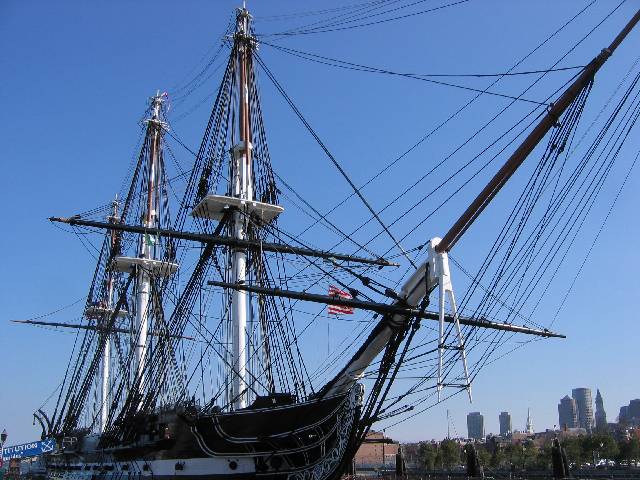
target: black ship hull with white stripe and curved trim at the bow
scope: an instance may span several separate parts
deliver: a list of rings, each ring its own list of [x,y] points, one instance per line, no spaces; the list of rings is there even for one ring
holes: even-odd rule
[[[127,442],[60,439],[64,448],[47,457],[47,469],[66,480],[334,480],[351,461],[360,401],[355,386],[346,395],[233,413],[158,412],[139,418]]]

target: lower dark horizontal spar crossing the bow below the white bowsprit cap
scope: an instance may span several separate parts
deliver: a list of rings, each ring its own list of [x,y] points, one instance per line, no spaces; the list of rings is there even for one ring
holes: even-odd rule
[[[438,320],[438,312],[422,312],[417,308],[403,307],[402,305],[388,305],[386,303],[368,302],[363,300],[347,299],[341,297],[334,297],[330,295],[318,295],[314,293],[296,292],[292,290],[282,290],[279,288],[265,288],[256,287],[250,285],[239,285],[234,283],[209,281],[209,285],[214,287],[232,288],[236,290],[245,290],[247,292],[262,294],[262,295],[274,295],[278,297],[293,298],[295,300],[304,300],[315,303],[324,303],[326,305],[340,305],[344,307],[359,308],[362,310],[370,310],[372,312],[387,314],[400,314],[407,315],[408,317],[418,317],[427,320]],[[445,315],[444,321],[446,323],[455,323],[453,315]],[[553,337],[553,338],[566,338],[566,336],[551,332],[547,329],[535,329],[528,328],[520,325],[512,325],[509,323],[491,322],[484,319],[475,319],[470,317],[458,317],[458,321],[461,325],[469,325],[472,327],[489,328],[493,330],[505,330],[515,333],[525,333],[528,335],[536,335],[539,337]]]

